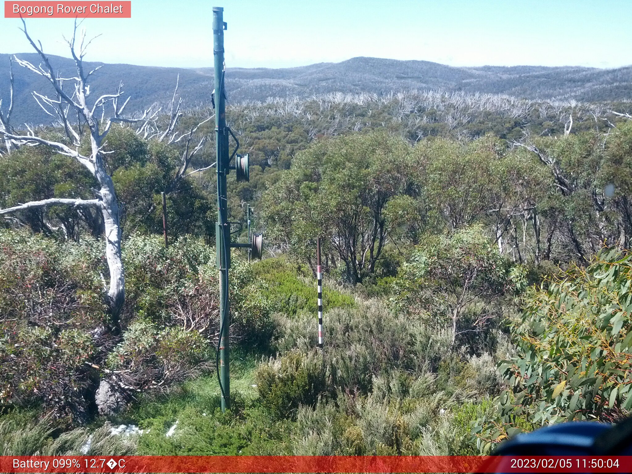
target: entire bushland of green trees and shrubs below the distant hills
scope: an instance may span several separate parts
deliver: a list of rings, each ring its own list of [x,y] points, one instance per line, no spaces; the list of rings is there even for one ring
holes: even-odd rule
[[[214,111],[176,97],[114,120],[96,150],[92,116],[3,129],[4,454],[480,454],[628,414],[628,104],[428,90],[231,105],[251,166],[229,179],[230,220],[253,205],[267,252],[233,253],[222,413]],[[90,150],[100,176],[76,159]],[[61,205],[92,202],[104,176],[125,271],[115,328],[107,216]]]

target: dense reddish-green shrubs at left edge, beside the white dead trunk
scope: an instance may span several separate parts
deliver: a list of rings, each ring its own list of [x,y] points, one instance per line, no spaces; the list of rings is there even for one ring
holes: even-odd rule
[[[95,248],[0,231],[0,406],[40,402],[85,419],[88,331],[105,316]]]

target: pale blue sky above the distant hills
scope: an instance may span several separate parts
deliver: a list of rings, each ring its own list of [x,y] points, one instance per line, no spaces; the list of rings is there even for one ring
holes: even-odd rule
[[[107,1],[110,3],[110,0]],[[116,2],[114,2],[116,3]],[[224,7],[228,67],[292,67],[355,56],[453,66],[632,64],[629,0],[132,0],[131,19],[88,19],[87,59],[212,65],[212,6]],[[27,20],[45,51],[68,56],[72,20]],[[26,52],[20,20],[0,18],[0,52]]]

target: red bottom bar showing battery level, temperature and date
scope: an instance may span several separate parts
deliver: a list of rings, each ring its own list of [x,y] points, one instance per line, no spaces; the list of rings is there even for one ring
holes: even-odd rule
[[[0,456],[3,473],[597,473],[632,456]]]

